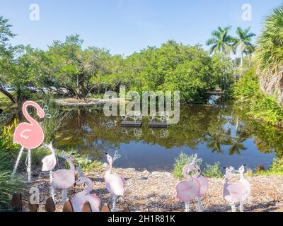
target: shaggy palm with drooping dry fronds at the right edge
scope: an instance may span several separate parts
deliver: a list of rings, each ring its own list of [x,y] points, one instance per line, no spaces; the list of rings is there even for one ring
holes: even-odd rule
[[[258,38],[256,59],[258,61],[260,86],[267,95],[276,95],[282,103],[283,97],[283,4],[265,17]]]

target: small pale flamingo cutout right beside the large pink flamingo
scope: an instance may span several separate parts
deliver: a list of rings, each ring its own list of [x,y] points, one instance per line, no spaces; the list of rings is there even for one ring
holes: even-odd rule
[[[47,146],[51,150],[51,155],[47,155],[42,159],[42,172],[50,172],[50,182],[52,181],[52,170],[57,164],[56,150],[53,148],[52,143]],[[50,195],[55,202],[54,187],[50,186]]]

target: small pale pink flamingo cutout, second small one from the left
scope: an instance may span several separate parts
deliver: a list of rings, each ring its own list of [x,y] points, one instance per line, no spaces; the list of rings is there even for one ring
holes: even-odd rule
[[[58,169],[52,172],[50,186],[54,189],[62,189],[62,203],[65,203],[67,200],[67,189],[75,183],[75,166],[71,155],[66,156],[63,153],[63,157],[69,163],[70,169]]]

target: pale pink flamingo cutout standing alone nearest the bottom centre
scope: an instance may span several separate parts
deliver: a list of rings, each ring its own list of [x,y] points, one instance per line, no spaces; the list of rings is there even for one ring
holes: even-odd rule
[[[108,153],[105,154],[107,156],[109,169],[106,171],[104,179],[106,183],[106,189],[109,191],[110,194],[112,194],[112,210],[113,212],[116,212],[117,196],[124,196],[125,179],[118,174],[112,173],[112,164],[115,160],[120,158],[121,155],[118,154],[117,150],[115,151],[115,155],[113,158],[108,155]]]

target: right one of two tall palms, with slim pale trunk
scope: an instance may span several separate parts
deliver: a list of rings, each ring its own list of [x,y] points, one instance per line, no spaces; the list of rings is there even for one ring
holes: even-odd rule
[[[255,34],[250,32],[250,28],[237,28],[236,34],[238,35],[238,37],[236,38],[233,46],[236,48],[240,47],[241,69],[243,69],[243,54],[250,54],[254,51],[255,47],[253,46],[251,41],[252,37],[255,37]]]

